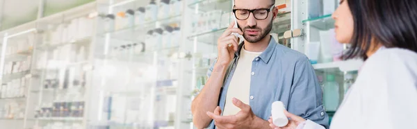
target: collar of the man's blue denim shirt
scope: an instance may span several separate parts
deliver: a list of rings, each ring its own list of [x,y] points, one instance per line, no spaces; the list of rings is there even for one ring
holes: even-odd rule
[[[245,42],[239,44],[238,51],[235,52],[235,58],[239,58],[243,44],[245,44]],[[271,36],[271,40],[268,44],[268,47],[265,49],[265,51],[261,53],[261,55],[259,55],[259,58],[261,58],[261,60],[266,64],[268,64],[269,60],[271,59],[272,53],[274,53],[275,51],[275,46],[277,46],[277,42],[275,42],[274,37]]]

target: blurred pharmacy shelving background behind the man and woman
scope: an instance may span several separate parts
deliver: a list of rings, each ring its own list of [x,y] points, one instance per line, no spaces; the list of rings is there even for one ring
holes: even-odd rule
[[[276,0],[272,37],[306,54],[332,117],[360,60],[339,60],[338,0]],[[192,129],[231,0],[0,0],[0,127]],[[330,121],[329,121],[330,122]]]

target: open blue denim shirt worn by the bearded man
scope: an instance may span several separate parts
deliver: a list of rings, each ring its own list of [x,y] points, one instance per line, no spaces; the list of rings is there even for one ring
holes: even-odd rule
[[[239,45],[235,58],[227,69],[220,90],[218,105],[222,110],[242,47],[243,43]],[[213,65],[208,69],[208,77],[211,76]],[[250,98],[249,105],[257,117],[268,120],[272,103],[282,101],[288,112],[328,128],[329,117],[322,105],[322,89],[306,55],[277,44],[271,37],[267,49],[254,58],[252,72],[255,74],[251,77],[250,96],[247,97]],[[215,128],[213,121],[209,128]]]

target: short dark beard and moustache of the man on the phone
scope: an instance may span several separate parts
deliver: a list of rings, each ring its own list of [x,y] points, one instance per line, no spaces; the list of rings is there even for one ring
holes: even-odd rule
[[[239,28],[240,28],[240,26],[239,26]],[[246,29],[258,30],[261,33],[259,35],[247,35],[247,34],[245,34],[245,30]],[[243,29],[240,28],[240,30],[243,31],[243,37],[245,37],[245,40],[247,42],[251,42],[251,43],[259,42],[264,37],[266,37],[267,35],[269,35],[269,33],[271,32],[271,30],[272,30],[272,20],[271,20],[270,24],[268,24],[268,26],[266,26],[265,30],[263,30],[262,28],[259,28],[258,26],[246,26]]]

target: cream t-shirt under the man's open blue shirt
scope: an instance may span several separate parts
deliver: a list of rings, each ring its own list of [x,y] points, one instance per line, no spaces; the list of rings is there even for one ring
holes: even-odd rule
[[[233,104],[233,98],[238,98],[249,105],[250,99],[250,78],[252,73],[252,62],[262,52],[250,52],[243,49],[240,51],[240,58],[227,89],[226,103],[223,116],[234,115],[240,112],[240,108]]]

